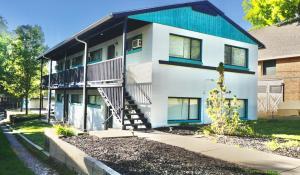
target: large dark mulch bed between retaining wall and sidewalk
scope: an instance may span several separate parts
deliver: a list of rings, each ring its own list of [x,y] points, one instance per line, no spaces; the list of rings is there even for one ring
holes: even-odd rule
[[[252,174],[238,165],[145,138],[63,138],[121,174]]]

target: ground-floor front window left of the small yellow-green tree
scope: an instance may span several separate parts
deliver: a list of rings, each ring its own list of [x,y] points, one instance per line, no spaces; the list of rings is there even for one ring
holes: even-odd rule
[[[200,120],[200,99],[169,97],[168,120]]]

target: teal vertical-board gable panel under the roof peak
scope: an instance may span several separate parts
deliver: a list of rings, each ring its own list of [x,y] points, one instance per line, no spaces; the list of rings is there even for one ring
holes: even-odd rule
[[[242,33],[222,16],[213,16],[194,11],[192,7],[136,14],[129,16],[129,18],[257,45],[254,40]]]

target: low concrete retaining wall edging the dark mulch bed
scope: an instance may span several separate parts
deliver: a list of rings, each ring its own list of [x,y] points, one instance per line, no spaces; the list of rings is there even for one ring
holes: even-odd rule
[[[53,129],[45,131],[50,157],[65,164],[78,174],[119,175],[104,163],[88,156],[75,146],[61,140],[54,134]]]

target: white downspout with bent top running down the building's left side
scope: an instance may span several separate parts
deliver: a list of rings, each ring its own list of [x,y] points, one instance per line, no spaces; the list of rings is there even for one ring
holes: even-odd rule
[[[84,44],[84,54],[83,54],[83,131],[86,132],[87,131],[87,106],[86,106],[86,102],[87,102],[87,88],[86,88],[86,77],[87,77],[87,55],[88,55],[88,44],[87,42],[78,39],[78,37],[76,36],[76,41]]]

